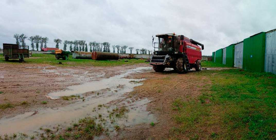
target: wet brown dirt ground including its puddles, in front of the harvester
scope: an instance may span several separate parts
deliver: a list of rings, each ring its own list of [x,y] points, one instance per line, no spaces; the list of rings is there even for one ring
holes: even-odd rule
[[[41,134],[41,128],[66,128],[82,117],[104,116],[110,135],[100,139],[168,138],[177,125],[171,119],[171,103],[196,97],[202,82],[208,82],[205,77],[197,79],[195,73],[156,73],[148,64],[91,68],[5,64],[0,104],[12,107],[1,110],[0,131]],[[121,129],[115,131],[110,111],[122,106],[128,110],[127,117],[116,119]]]

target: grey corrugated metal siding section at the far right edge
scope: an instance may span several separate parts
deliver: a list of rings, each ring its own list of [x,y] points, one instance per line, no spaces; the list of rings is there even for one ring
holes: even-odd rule
[[[266,33],[264,71],[276,74],[276,31]]]

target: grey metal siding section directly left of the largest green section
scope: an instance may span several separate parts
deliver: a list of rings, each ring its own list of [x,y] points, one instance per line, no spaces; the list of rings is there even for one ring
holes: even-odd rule
[[[234,53],[234,67],[242,69],[242,61],[243,61],[243,42],[235,45],[235,53]]]

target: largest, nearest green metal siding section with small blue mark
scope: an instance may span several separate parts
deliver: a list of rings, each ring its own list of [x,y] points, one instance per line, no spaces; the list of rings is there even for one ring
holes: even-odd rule
[[[243,40],[243,69],[264,72],[266,33]]]

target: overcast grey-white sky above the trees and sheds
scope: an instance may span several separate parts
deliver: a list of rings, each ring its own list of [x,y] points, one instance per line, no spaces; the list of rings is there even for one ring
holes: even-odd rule
[[[276,28],[275,0],[0,0],[0,5],[1,48],[24,33],[49,37],[48,47],[60,38],[153,50],[152,35],[176,33],[204,44],[202,55],[212,55]]]

